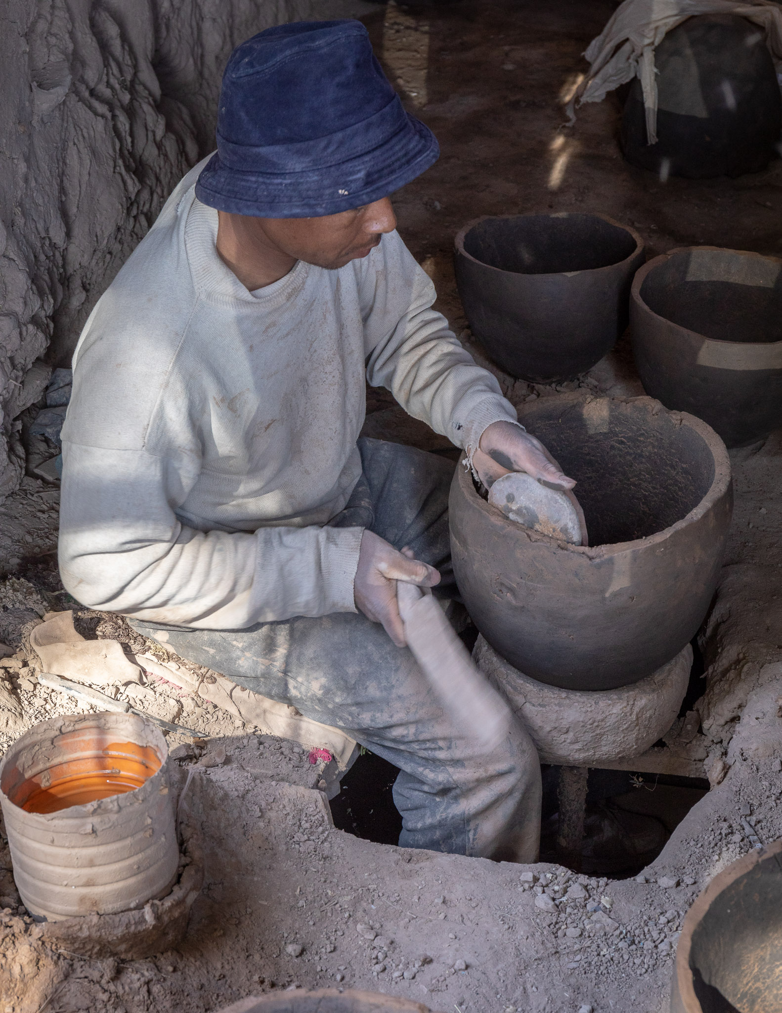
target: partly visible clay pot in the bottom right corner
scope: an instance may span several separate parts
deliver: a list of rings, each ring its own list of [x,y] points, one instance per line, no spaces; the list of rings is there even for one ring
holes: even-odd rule
[[[782,841],[714,876],[687,913],[671,1013],[782,1009]]]

